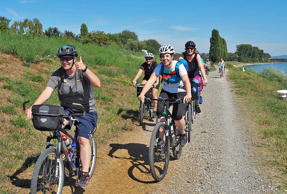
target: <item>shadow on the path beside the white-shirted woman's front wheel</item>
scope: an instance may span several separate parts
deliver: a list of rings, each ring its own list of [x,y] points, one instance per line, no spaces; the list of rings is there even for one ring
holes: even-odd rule
[[[110,144],[110,147],[112,147],[108,154],[110,157],[127,159],[132,164],[128,170],[130,178],[140,183],[156,183],[149,170],[149,147],[138,143]],[[117,156],[115,152],[120,149],[126,149],[130,157]]]

